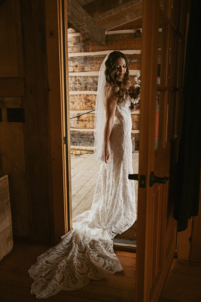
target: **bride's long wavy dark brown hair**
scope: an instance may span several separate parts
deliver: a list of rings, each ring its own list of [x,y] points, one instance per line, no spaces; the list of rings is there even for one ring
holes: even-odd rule
[[[117,70],[117,59],[123,58],[126,62],[126,72],[124,74],[124,77],[121,81],[118,81],[118,76],[115,74]],[[128,61],[127,57],[124,55],[124,53],[121,53],[121,51],[113,51],[108,55],[108,58],[105,62],[105,77],[106,82],[108,82],[112,86],[112,95],[115,97],[118,97],[118,103],[121,103],[124,100],[124,94],[126,94],[126,97],[128,95],[127,89],[125,86],[128,86]],[[115,92],[115,88],[119,87],[118,92]]]

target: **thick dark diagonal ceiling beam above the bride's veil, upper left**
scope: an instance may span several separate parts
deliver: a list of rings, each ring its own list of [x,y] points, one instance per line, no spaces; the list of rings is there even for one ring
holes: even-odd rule
[[[105,30],[79,5],[76,0],[68,0],[68,22],[85,37],[105,45]]]

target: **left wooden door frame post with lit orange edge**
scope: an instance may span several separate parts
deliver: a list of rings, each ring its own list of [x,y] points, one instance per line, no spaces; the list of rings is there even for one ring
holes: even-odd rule
[[[58,243],[61,236],[72,228],[68,40],[63,40],[63,33],[68,33],[67,0],[45,0],[45,11],[54,221],[52,242]],[[63,143],[64,137],[66,143]]]

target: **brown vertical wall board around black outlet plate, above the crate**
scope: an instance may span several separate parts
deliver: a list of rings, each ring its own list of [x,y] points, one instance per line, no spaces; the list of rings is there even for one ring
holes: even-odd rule
[[[6,108],[21,108],[21,98],[1,98],[3,122],[0,127],[2,170],[8,174],[13,235],[30,235],[27,198],[24,133],[21,122],[7,122]]]

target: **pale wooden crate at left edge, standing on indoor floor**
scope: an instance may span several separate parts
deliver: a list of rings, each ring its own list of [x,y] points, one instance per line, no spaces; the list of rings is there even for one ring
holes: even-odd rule
[[[0,261],[13,248],[8,175],[0,178]]]

